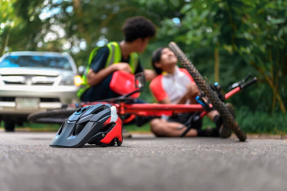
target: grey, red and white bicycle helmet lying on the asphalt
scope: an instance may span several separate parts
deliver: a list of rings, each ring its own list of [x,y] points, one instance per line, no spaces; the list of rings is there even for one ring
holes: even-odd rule
[[[122,121],[110,104],[89,105],[77,109],[50,142],[55,147],[78,147],[86,143],[113,146],[123,142]]]

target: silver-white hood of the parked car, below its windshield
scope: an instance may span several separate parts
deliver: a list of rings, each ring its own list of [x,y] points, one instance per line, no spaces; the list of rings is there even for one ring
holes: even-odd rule
[[[44,67],[7,67],[0,68],[0,75],[35,75],[35,76],[59,76],[60,74],[71,74],[71,70]]]

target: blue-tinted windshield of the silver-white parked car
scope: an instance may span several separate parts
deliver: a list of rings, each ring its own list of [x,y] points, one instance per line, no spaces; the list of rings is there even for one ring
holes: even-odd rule
[[[56,56],[7,56],[0,63],[0,68],[4,67],[52,67],[72,70],[67,58]]]

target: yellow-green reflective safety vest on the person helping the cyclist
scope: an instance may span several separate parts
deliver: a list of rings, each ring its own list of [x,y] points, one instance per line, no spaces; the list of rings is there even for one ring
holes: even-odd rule
[[[105,46],[108,47],[108,49],[109,49],[109,55],[108,55],[108,59],[107,59],[106,64],[105,64],[105,68],[108,67],[111,64],[121,62],[122,52],[121,52],[121,47],[120,47],[119,43],[117,43],[117,42],[109,42]],[[90,87],[89,84],[88,84],[87,75],[88,75],[88,72],[90,70],[90,65],[92,63],[92,60],[96,56],[96,54],[97,54],[97,52],[98,52],[98,50],[100,48],[102,48],[102,47],[96,47],[90,53],[86,71],[82,75],[82,84],[80,85],[80,88],[79,88],[79,90],[77,92],[77,96],[79,98],[86,91],[86,89],[88,89]],[[138,63],[139,63],[139,56],[138,56],[138,54],[136,52],[130,53],[130,55],[129,55],[129,65],[131,67],[132,74],[135,73],[135,70],[137,69]]]

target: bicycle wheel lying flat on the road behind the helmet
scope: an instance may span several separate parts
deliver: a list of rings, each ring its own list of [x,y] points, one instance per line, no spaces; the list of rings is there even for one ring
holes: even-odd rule
[[[54,109],[40,111],[28,115],[27,120],[32,123],[57,123],[62,124],[78,108]]]

